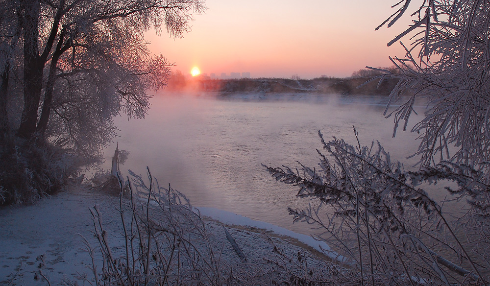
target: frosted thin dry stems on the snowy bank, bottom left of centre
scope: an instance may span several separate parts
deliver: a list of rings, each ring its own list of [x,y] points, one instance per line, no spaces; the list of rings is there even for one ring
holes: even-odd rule
[[[170,187],[161,188],[149,170],[147,182],[130,174],[131,199],[127,205],[121,196],[120,205],[123,253],[114,253],[98,208],[91,209],[104,261],[101,269],[93,265],[95,285],[224,285],[233,280],[189,200]],[[87,247],[95,259],[88,242]]]

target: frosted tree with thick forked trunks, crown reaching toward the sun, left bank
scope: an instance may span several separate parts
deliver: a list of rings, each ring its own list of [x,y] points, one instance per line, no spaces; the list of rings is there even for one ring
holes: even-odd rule
[[[93,93],[101,117],[122,108],[130,117],[142,117],[146,90],[162,88],[169,75],[165,58],[149,56],[143,33],[165,24],[181,36],[191,13],[204,7],[200,0],[29,0],[17,9],[24,46],[24,108],[17,133],[29,139],[46,132],[53,113],[63,118],[55,112],[60,103],[53,101],[61,91],[75,97]]]

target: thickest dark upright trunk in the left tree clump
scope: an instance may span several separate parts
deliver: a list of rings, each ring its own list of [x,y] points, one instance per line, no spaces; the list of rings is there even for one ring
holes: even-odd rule
[[[44,62],[39,56],[40,2],[24,0],[24,110],[17,134],[31,139],[36,131],[39,101],[43,87]]]

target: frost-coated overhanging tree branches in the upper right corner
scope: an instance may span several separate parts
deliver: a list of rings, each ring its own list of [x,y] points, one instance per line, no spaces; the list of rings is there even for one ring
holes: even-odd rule
[[[423,98],[429,109],[412,129],[420,133],[417,155],[422,164],[441,159],[470,165],[489,162],[490,4],[479,0],[421,2],[412,14],[414,24],[388,43],[412,36],[407,56],[392,59],[400,74],[386,75],[400,79],[391,103],[409,96],[392,113],[395,130],[401,121],[406,128],[415,99]],[[400,1],[395,5],[400,8],[382,25],[391,26],[409,4],[410,0]]]

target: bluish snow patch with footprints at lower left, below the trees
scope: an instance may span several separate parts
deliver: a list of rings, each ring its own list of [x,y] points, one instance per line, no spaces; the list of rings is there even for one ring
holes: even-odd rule
[[[82,236],[96,245],[89,212],[94,205],[103,213],[108,228],[117,231],[121,227],[115,197],[79,189],[42,199],[36,205],[0,209],[0,285],[9,285],[11,279],[12,285],[46,285],[36,274],[41,256],[42,271],[52,285],[88,273],[90,257],[83,250]]]

